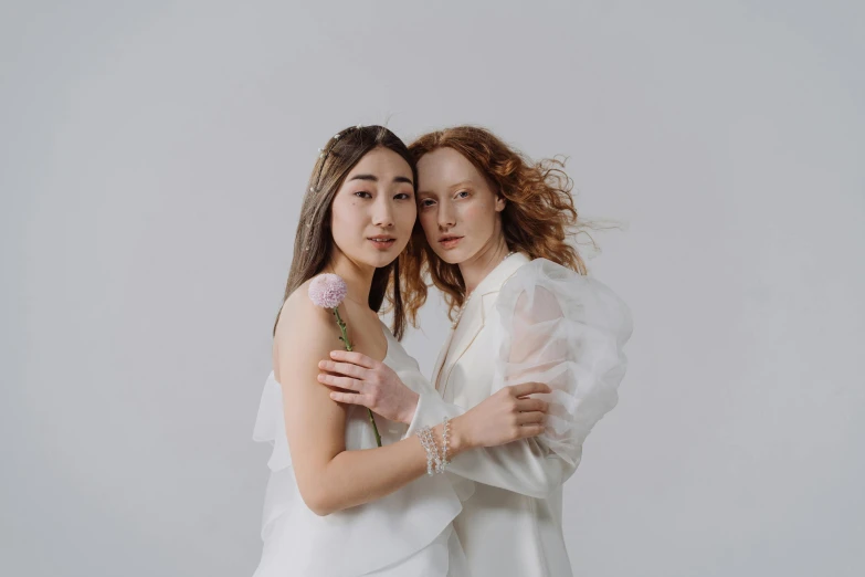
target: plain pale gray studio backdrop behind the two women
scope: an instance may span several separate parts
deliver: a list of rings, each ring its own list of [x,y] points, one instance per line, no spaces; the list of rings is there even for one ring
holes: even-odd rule
[[[476,123],[627,224],[576,573],[862,575],[863,4],[408,4],[2,3],[0,574],[250,575],[317,148]]]

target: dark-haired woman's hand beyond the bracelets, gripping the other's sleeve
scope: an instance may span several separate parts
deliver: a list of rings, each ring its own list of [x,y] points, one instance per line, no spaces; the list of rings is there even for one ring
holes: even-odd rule
[[[542,382],[513,385],[453,419],[454,450],[496,447],[537,437],[545,430],[549,403],[529,395],[552,392]]]

